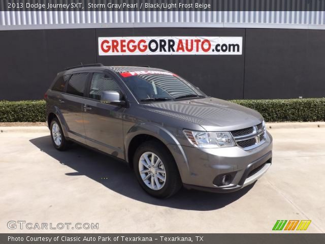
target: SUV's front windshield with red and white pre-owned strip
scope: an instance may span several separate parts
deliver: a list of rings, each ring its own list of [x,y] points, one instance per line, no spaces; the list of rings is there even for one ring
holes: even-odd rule
[[[120,73],[138,101],[168,101],[206,97],[181,77],[163,71]]]

